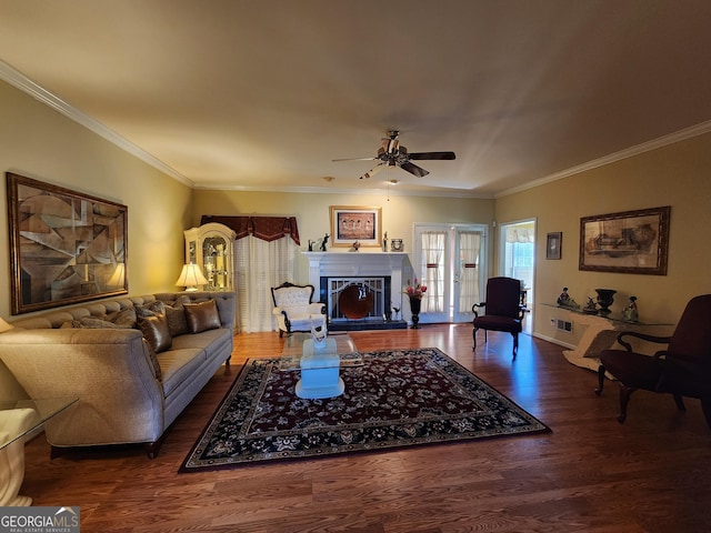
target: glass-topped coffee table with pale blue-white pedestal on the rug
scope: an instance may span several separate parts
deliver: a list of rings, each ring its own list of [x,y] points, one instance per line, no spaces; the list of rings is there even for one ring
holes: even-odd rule
[[[348,334],[334,334],[316,342],[310,333],[292,333],[284,342],[279,370],[301,371],[297,396],[308,400],[336,398],[346,385],[340,378],[343,366],[358,366],[363,359]]]

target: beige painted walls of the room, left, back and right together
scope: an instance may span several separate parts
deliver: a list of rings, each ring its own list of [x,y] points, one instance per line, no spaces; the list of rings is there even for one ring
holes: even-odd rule
[[[553,302],[562,286],[580,303],[598,286],[618,290],[615,310],[629,295],[639,298],[642,320],[675,322],[694,294],[711,292],[705,264],[711,247],[703,239],[711,221],[711,134],[648,152],[578,175],[494,200],[390,194],[327,194],[191,190],[124,152],[59,112],[0,82],[0,161],[6,171],[67,187],[129,207],[130,292],[172,290],[183,261],[182,231],[202,214],[296,215],[302,249],[309,239],[331,232],[329,205],[379,205],[383,229],[402,238],[412,252],[412,228],[425,223],[491,224],[537,219],[537,301]],[[367,185],[363,185],[364,188]],[[367,189],[364,189],[367,190]],[[6,204],[6,189],[0,188]],[[581,272],[578,270],[580,218],[671,205],[669,274],[665,276]],[[562,231],[562,260],[547,261],[548,232]],[[495,272],[495,234],[489,243],[490,273]],[[7,217],[0,218],[0,315],[10,316]],[[337,251],[337,250],[332,250]],[[341,251],[341,250],[339,250]],[[344,250],[342,250],[344,251]],[[700,266],[704,265],[704,266]],[[300,258],[297,282],[308,280]],[[561,342],[535,309],[534,332]],[[11,386],[0,369],[0,391]],[[2,394],[0,394],[2,395]]]

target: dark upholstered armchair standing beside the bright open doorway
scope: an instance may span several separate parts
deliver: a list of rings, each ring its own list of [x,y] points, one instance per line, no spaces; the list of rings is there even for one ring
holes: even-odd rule
[[[485,308],[485,314],[479,315],[479,309]],[[513,358],[519,349],[519,333],[525,308],[521,304],[521,282],[513,278],[490,278],[487,281],[487,301],[474,303],[471,308],[474,313],[474,350],[477,349],[477,332],[504,331],[513,336]]]

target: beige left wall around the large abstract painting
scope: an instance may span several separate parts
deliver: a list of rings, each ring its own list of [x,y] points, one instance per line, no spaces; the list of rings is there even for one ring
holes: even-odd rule
[[[0,82],[0,117],[3,172],[128,205],[129,291],[144,294],[174,289],[172,281],[184,255],[182,230],[191,221],[189,187],[4,82]],[[4,185],[0,201],[7,213]],[[0,217],[0,315],[11,322],[8,234],[6,214]],[[0,395],[13,386],[3,370]]]

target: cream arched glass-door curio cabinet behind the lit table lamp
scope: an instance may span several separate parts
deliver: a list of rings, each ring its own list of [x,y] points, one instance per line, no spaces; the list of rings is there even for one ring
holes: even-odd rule
[[[184,231],[186,262],[198,264],[208,280],[206,291],[234,291],[237,234],[230,228],[210,222]]]

